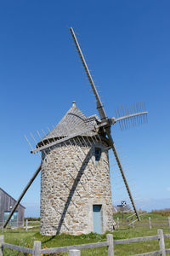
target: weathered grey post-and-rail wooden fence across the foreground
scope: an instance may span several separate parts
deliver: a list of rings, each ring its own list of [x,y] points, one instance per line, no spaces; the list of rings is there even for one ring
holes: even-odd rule
[[[150,240],[158,240],[159,241],[159,251],[154,251],[150,253],[140,253],[135,254],[133,256],[146,256],[146,255],[161,255],[166,256],[166,253],[170,253],[170,249],[165,248],[164,238],[170,238],[170,234],[163,234],[163,230],[157,230],[156,236],[144,236],[144,237],[135,237],[130,239],[121,239],[121,240],[113,240],[113,236],[111,234],[106,235],[107,241],[102,242],[95,242],[95,243],[88,243],[82,245],[75,245],[75,246],[68,246],[68,247],[52,247],[48,249],[41,248],[41,241],[34,241],[34,247],[26,248],[26,247],[19,247],[13,244],[8,244],[3,241],[4,236],[0,236],[0,256],[3,256],[3,248],[7,247],[18,252],[23,253],[31,253],[33,256],[41,256],[48,253],[60,253],[60,252],[67,252],[69,251],[69,256],[80,256],[81,249],[88,249],[94,247],[107,247],[107,254],[108,256],[114,256],[114,245],[116,244],[126,244],[130,242],[137,242],[137,241],[150,241]]]

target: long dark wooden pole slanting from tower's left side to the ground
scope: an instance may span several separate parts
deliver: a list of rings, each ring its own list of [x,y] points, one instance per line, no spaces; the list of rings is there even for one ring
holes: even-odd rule
[[[14,211],[16,210],[16,208],[18,207],[18,205],[20,204],[20,201],[22,200],[23,196],[26,194],[26,191],[30,188],[31,183],[33,183],[34,179],[37,177],[37,174],[40,172],[42,168],[42,163],[37,167],[36,172],[34,173],[34,175],[31,177],[31,180],[29,181],[29,183],[27,183],[26,188],[23,190],[22,194],[20,195],[18,201],[16,201],[14,208],[12,209],[12,211],[10,212],[5,224],[3,225],[3,228],[5,228],[10,220],[10,218],[12,217]]]

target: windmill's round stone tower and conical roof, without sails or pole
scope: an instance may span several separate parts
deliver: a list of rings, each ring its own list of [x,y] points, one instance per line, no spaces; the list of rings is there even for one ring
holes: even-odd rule
[[[59,124],[39,143],[48,143],[100,123],[73,102]],[[88,131],[42,150],[41,234],[72,235],[113,230],[108,143]]]

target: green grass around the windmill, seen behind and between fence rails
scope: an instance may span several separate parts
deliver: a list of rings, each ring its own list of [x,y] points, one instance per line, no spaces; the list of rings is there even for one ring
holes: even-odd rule
[[[154,218],[152,213],[150,217]],[[147,218],[149,215],[147,215]],[[160,216],[155,216],[155,218],[159,218]],[[161,217],[160,217],[161,218]],[[164,217],[165,218],[165,217]],[[170,228],[168,225],[154,225],[150,230],[147,225],[136,225],[133,229],[127,225],[120,226],[119,230],[113,231],[113,237],[115,240],[117,239],[126,239],[132,237],[140,237],[140,236],[153,236],[157,235],[157,230],[162,229],[164,234],[170,234]],[[82,236],[69,236],[69,235],[59,235],[59,236],[41,236],[37,229],[33,230],[7,230],[5,233],[0,233],[0,235],[4,235],[5,242],[12,243],[15,245],[20,245],[23,247],[33,247],[34,241],[42,241],[42,247],[63,247],[69,245],[83,244],[83,243],[91,243],[97,241],[106,241],[105,235],[97,235],[97,234],[88,234]],[[170,248],[170,240],[166,239],[166,248]],[[126,256],[133,255],[136,253],[146,253],[151,251],[159,250],[158,241],[144,241],[144,242],[135,242],[129,243],[125,245],[115,245],[115,255],[117,256]],[[15,256],[15,255],[26,255],[26,253],[17,253],[15,251],[5,249],[5,256]],[[50,255],[68,255],[68,253],[55,253]],[[94,249],[84,249],[81,250],[81,255],[107,255],[106,247],[99,247]],[[170,255],[170,254],[167,254]]]

